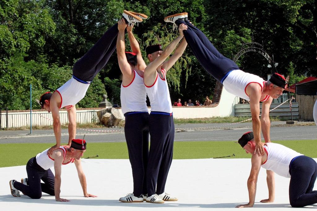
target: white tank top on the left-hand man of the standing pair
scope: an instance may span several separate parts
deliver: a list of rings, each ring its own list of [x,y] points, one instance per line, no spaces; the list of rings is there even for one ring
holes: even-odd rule
[[[123,86],[121,83],[120,99],[123,114],[126,112],[148,112],[143,77],[136,70],[133,72],[134,77],[130,84]]]

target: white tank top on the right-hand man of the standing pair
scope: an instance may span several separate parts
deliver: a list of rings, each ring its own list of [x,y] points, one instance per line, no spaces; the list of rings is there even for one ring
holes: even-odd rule
[[[166,81],[166,73],[164,69],[161,69],[161,72],[164,78],[161,78],[157,73],[154,84],[152,86],[146,86],[147,96],[151,102],[151,112],[172,113],[172,103]]]

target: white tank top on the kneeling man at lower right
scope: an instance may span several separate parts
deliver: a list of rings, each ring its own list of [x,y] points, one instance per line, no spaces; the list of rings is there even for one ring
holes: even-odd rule
[[[268,154],[268,159],[262,163],[262,167],[264,169],[272,170],[280,176],[290,178],[289,163],[294,157],[301,156],[303,154],[289,149],[281,144],[267,144],[268,146],[264,146],[264,150]]]

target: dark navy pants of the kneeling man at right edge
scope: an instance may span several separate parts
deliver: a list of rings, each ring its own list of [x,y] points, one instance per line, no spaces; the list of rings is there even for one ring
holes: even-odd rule
[[[305,207],[317,203],[314,183],[317,177],[317,163],[313,158],[299,156],[289,167],[289,202],[292,207]]]

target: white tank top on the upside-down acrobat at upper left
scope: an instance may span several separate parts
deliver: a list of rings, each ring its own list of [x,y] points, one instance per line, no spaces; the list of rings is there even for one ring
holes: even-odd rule
[[[73,77],[69,79],[63,86],[59,87],[55,92],[61,96],[60,108],[70,109],[76,103],[81,101],[86,95],[89,84],[84,84]]]

